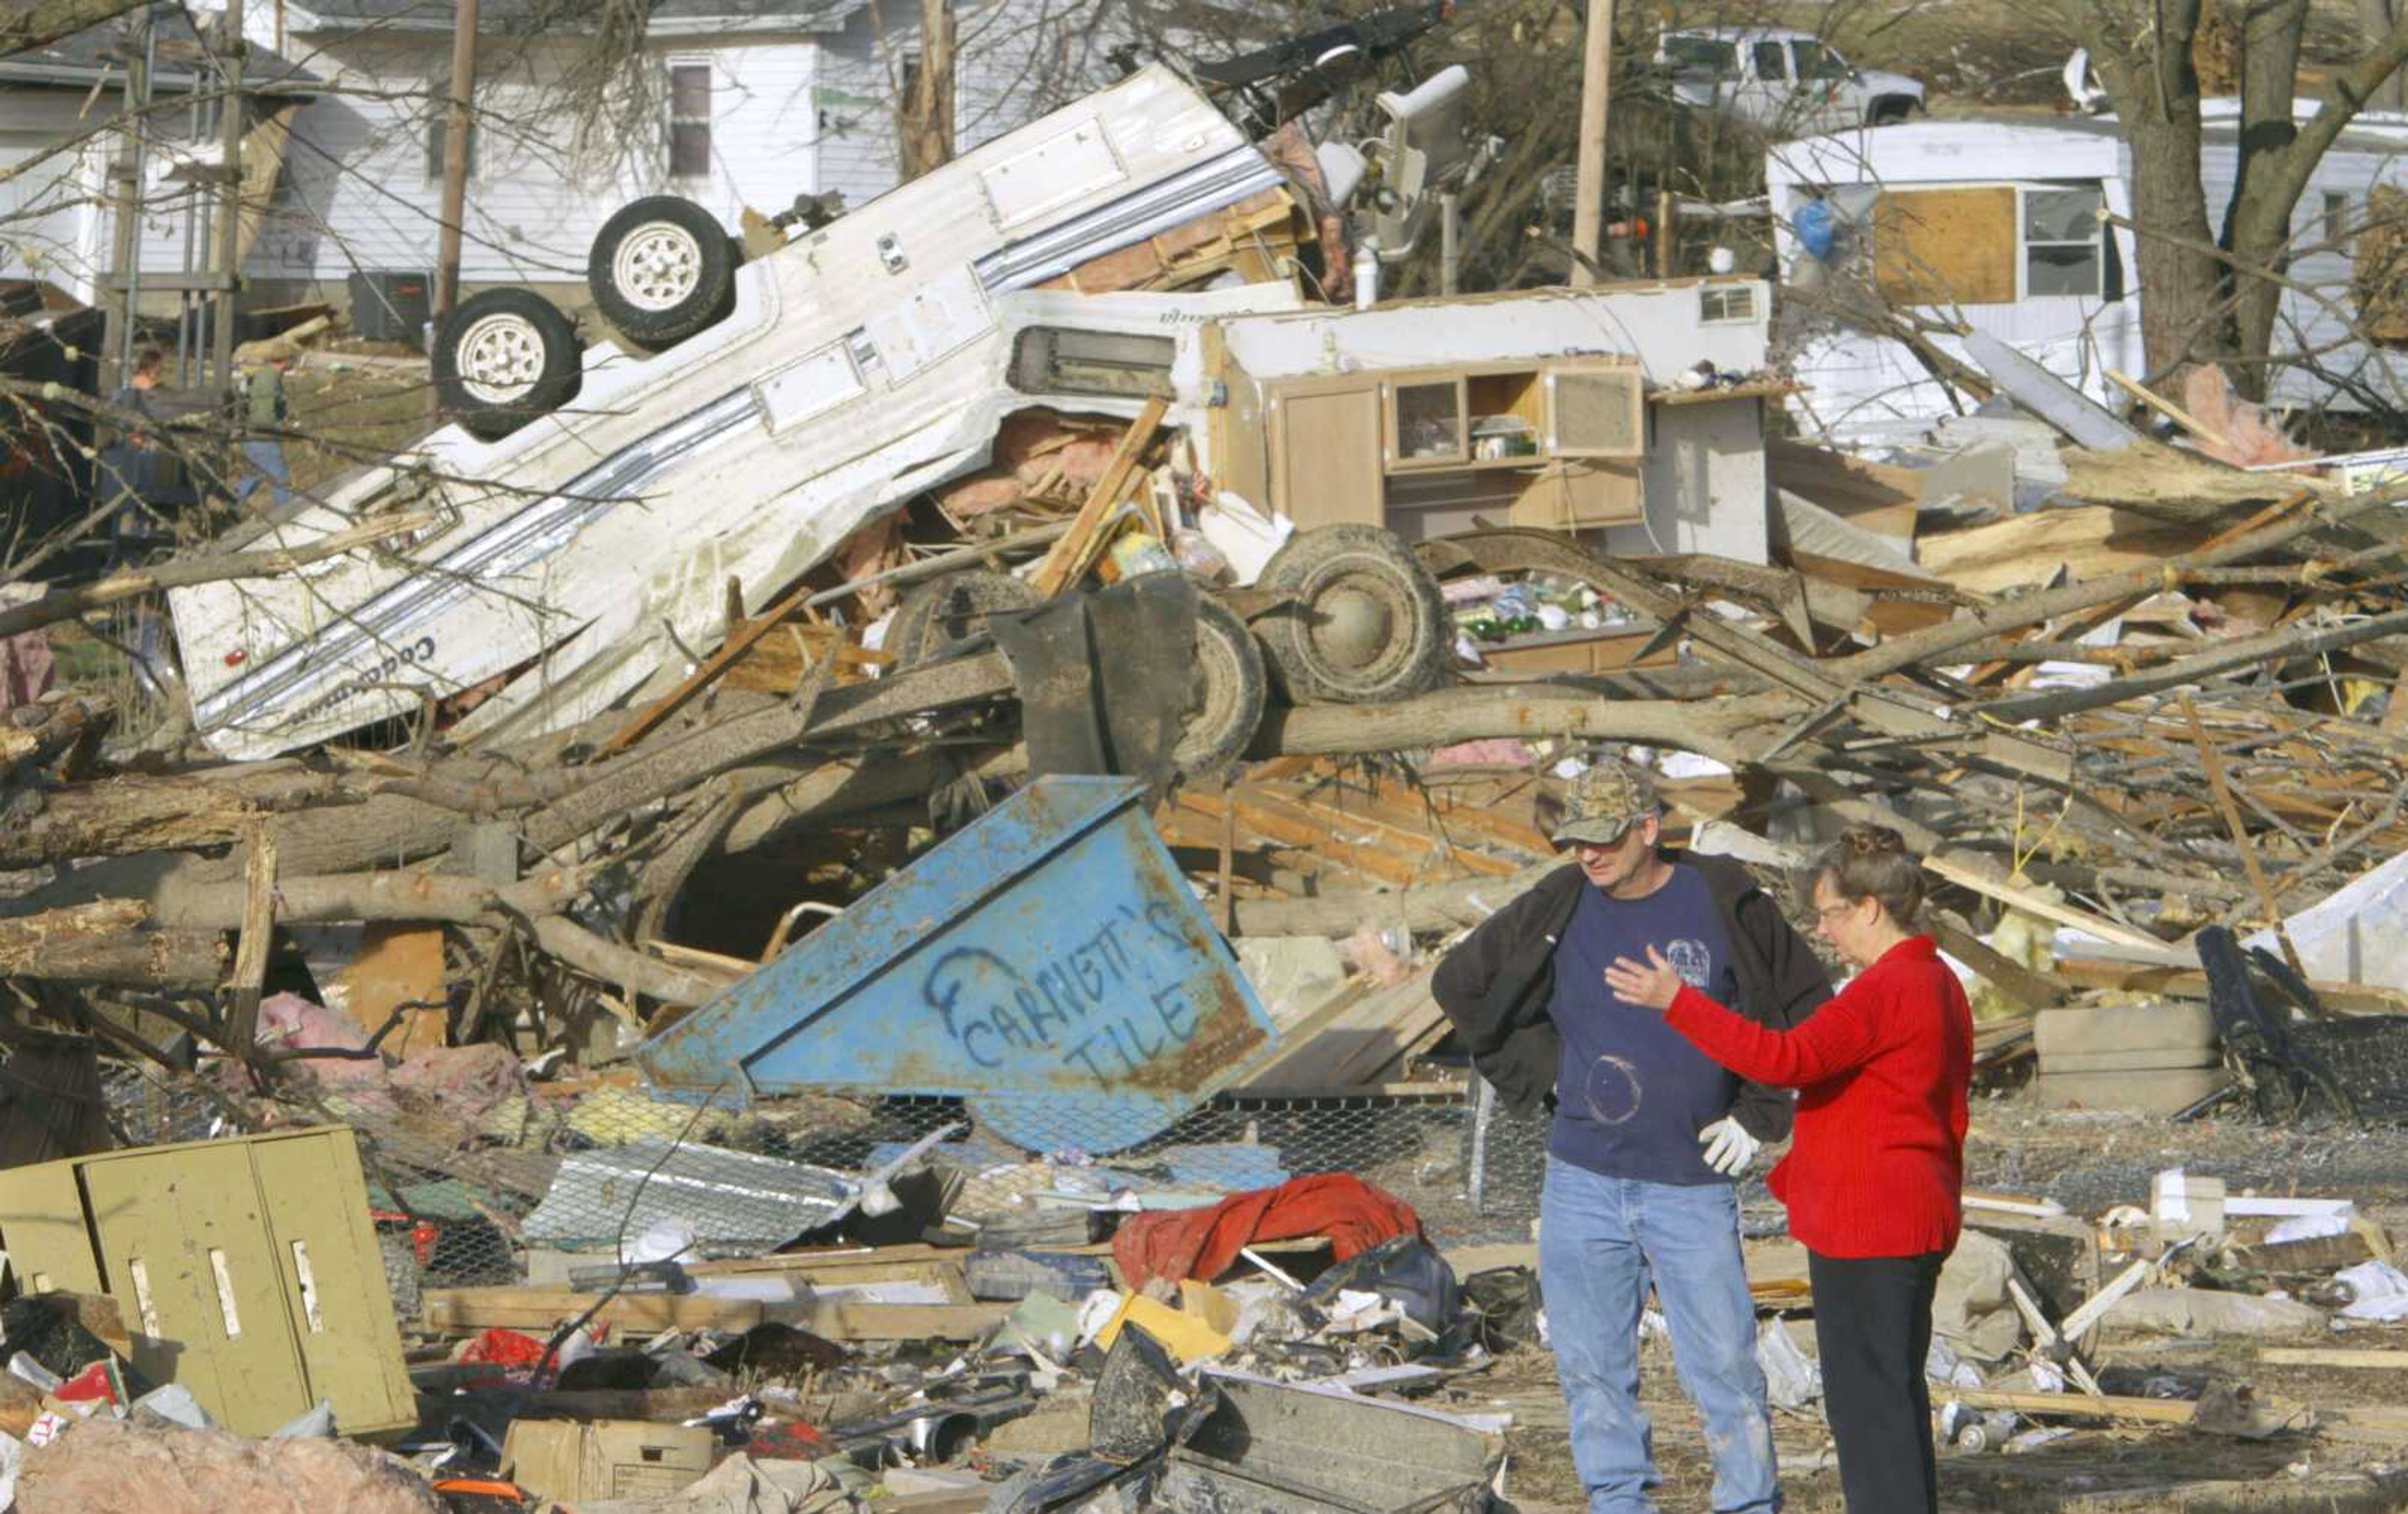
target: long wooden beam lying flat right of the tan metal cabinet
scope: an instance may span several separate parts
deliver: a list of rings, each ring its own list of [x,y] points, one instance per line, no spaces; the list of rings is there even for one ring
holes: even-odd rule
[[[597,1297],[576,1288],[429,1288],[421,1295],[421,1314],[426,1329],[445,1333],[484,1329],[542,1333],[583,1317]],[[864,1305],[826,1297],[778,1305],[691,1293],[621,1293],[604,1302],[592,1321],[633,1336],[749,1331],[778,1321],[828,1341],[975,1341],[1009,1312],[1011,1305]]]

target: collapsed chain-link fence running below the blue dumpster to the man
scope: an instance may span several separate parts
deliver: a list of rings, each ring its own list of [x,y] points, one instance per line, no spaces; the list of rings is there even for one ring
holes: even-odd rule
[[[734,1107],[641,1088],[479,1086],[429,1095],[366,1076],[236,1093],[224,1078],[120,1069],[108,1117],[135,1146],[344,1124],[395,1305],[424,1288],[563,1281],[614,1261],[655,1223],[703,1256],[759,1254],[852,1213],[864,1177],[934,1172],[944,1213],[1060,1240],[1086,1211],[1194,1203],[1315,1172],[1351,1172],[1411,1203],[1442,1242],[1527,1240],[1546,1122],[1503,1114],[1486,1088],[1329,1098],[1216,1098],[1110,1155],[1023,1151],[951,1098],[807,1095]],[[898,1182],[898,1189],[903,1184]],[[905,1203],[910,1208],[910,1203]],[[915,1211],[917,1213],[917,1211]],[[917,1240],[915,1218],[879,1240]],[[903,1225],[901,1230],[896,1225]]]

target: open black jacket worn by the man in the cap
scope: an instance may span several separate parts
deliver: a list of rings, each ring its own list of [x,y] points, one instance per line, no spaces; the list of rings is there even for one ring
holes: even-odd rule
[[[1830,977],[1806,941],[1782,919],[1772,895],[1748,869],[1724,857],[1678,857],[1705,879],[1731,941],[1739,980],[1739,1013],[1787,1030],[1830,999]],[[1536,1110],[1556,1090],[1560,1037],[1548,1016],[1556,992],[1556,941],[1572,919],[1572,905],[1589,881],[1565,864],[1491,915],[1462,946],[1438,963],[1430,994],[1447,1011],[1471,1052],[1471,1066],[1495,1086],[1515,1112]],[[1741,1083],[1731,1114],[1758,1141],[1789,1134],[1789,1095],[1763,1083]]]

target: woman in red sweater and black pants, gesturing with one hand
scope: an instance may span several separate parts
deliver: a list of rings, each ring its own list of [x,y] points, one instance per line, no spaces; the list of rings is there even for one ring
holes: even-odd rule
[[[1922,867],[1883,826],[1849,826],[1813,871],[1818,929],[1859,968],[1794,1030],[1767,1030],[1681,982],[1654,946],[1606,987],[1666,1011],[1741,1078],[1799,1088],[1772,1170],[1806,1247],[1823,1410],[1849,1514],[1938,1509],[1931,1456],[1931,1293],[1955,1249],[1965,1182],[1972,1009],[1931,936],[1912,934]]]

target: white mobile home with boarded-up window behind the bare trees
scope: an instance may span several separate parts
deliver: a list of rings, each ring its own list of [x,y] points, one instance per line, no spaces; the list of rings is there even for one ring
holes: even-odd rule
[[[2302,116],[2316,101],[2300,101]],[[2232,200],[2237,108],[2208,101],[2203,176],[2208,217]],[[2408,118],[2360,116],[2316,168],[2292,214],[2297,260],[2276,325],[2271,395],[2297,407],[2365,409],[2365,395],[2408,407],[2408,354],[2348,335],[2355,313],[2353,236],[2377,183],[2408,188]],[[1914,120],[1782,142],[1765,156],[1775,246],[1784,279],[1869,279],[1893,308],[1989,332],[2083,392],[2121,404],[2107,371],[2146,373],[2133,231],[2131,152],[2112,118]],[[1820,209],[1808,209],[1820,202]],[[1828,212],[1837,238],[1806,250]],[[1801,214],[1806,221],[1801,224]],[[2312,294],[2309,294],[2312,291]],[[1948,412],[1938,383],[1895,339],[1871,337],[1794,301],[1784,337],[1799,419],[1825,436],[1869,436],[1902,419]],[[1936,337],[1958,354],[1950,337]]]

